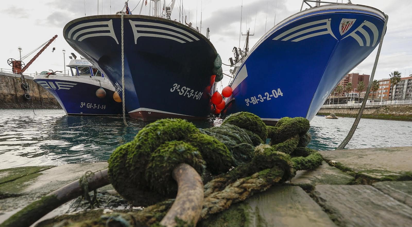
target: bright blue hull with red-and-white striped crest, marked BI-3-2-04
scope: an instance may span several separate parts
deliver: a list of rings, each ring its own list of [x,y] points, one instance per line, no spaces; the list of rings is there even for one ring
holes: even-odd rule
[[[313,119],[339,81],[379,46],[384,21],[378,9],[352,4],[286,18],[239,62],[223,113],[252,112],[267,124]]]

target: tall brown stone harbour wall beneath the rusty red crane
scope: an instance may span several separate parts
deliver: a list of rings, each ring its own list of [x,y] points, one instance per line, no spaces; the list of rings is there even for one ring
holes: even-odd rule
[[[21,87],[21,76],[14,73],[0,72],[0,108],[53,108],[61,109],[60,104],[42,86],[33,81],[33,77],[24,76],[29,85],[31,99],[23,98],[25,91]]]

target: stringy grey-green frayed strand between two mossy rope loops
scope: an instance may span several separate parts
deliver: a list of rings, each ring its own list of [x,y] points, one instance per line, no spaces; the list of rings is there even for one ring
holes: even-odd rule
[[[201,129],[201,132],[213,136],[226,145],[235,159],[234,166],[252,160],[254,147],[246,130],[236,125],[225,124],[219,127]]]

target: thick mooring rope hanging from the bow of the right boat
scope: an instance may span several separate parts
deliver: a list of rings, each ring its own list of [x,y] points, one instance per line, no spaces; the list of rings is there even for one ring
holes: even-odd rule
[[[382,48],[382,43],[384,41],[384,36],[385,36],[385,33],[386,33],[387,23],[388,23],[388,15],[385,14],[385,23],[384,23],[384,28],[382,30],[381,40],[379,42],[378,52],[376,53],[375,64],[373,65],[372,73],[370,74],[370,80],[369,80],[368,88],[366,89],[365,97],[363,97],[361,109],[359,109],[358,115],[356,116],[355,122],[353,122],[351,130],[349,131],[348,135],[346,135],[346,138],[342,141],[342,143],[339,145],[339,147],[336,148],[337,150],[342,150],[342,149],[345,148],[345,146],[348,144],[349,140],[351,140],[351,138],[353,136],[353,133],[355,133],[359,122],[361,121],[361,117],[362,117],[362,114],[363,114],[363,109],[365,108],[366,101],[368,100],[370,87],[372,87],[373,77],[375,76],[376,67],[378,65],[379,55],[381,53],[381,48]]]

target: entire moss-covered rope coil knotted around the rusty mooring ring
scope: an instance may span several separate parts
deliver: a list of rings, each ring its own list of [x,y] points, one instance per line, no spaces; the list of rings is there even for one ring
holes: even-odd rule
[[[107,178],[117,192],[146,208],[76,221],[94,226],[125,220],[138,226],[159,224],[173,204],[170,198],[178,192],[173,174],[181,163],[204,177],[199,213],[200,219],[205,219],[254,193],[290,180],[296,170],[321,165],[320,154],[306,148],[310,142],[308,130],[309,121],[302,117],[285,117],[272,127],[248,112],[230,115],[222,126],[203,130],[182,119],[158,120],[140,130],[133,141],[119,146],[108,161]],[[267,137],[270,143],[262,144]],[[258,141],[261,143],[255,146]],[[212,179],[207,182],[210,176]],[[89,190],[93,188],[89,181]],[[177,215],[175,219],[194,225],[197,220]]]

